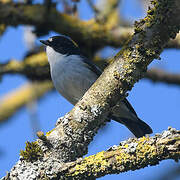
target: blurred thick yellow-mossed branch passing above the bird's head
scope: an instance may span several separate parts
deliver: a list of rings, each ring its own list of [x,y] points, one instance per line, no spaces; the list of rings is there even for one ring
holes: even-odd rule
[[[73,16],[58,12],[54,7],[51,7],[48,19],[45,19],[45,11],[46,8],[40,4],[0,3],[0,24],[3,26],[33,25],[37,29],[46,27],[47,32],[51,30],[72,37],[78,42],[85,54],[91,51],[89,52],[90,56],[107,45],[121,47],[133,33],[132,28],[112,29],[114,23],[109,23],[109,21],[104,26],[94,20],[81,21]],[[179,48],[179,38],[170,42],[168,47]]]

